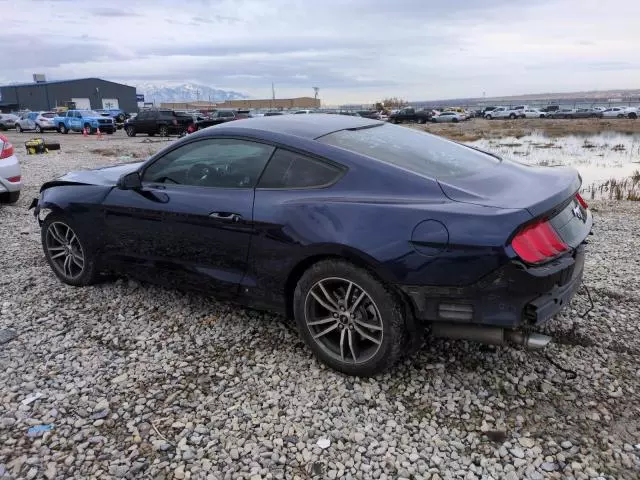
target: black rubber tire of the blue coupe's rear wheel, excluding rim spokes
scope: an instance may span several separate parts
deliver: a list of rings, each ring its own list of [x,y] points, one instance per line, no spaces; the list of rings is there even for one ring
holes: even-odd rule
[[[373,344],[377,345],[377,347],[369,347],[374,349],[373,352],[367,353],[367,350],[362,347],[362,344],[368,341],[360,334],[360,332],[363,331],[362,323],[358,323],[360,327],[354,327],[353,325],[347,326],[346,323],[342,323],[340,320],[335,320],[335,331],[330,332],[334,334],[334,336],[340,332],[338,336],[343,340],[343,344],[345,336],[348,336],[349,339],[353,336],[354,348],[351,349],[351,345],[349,345],[350,352],[357,351],[368,355],[367,358],[360,362],[341,360],[337,352],[333,351],[332,353],[331,348],[323,343],[330,341],[328,334],[320,337],[326,340],[314,339],[312,328],[324,328],[324,326],[317,327],[309,325],[307,323],[307,312],[310,311],[311,305],[319,305],[313,303],[315,300],[313,300],[314,297],[311,294],[311,290],[317,287],[321,281],[352,282],[354,285],[351,291],[353,295],[350,296],[352,302],[355,302],[353,299],[359,295],[359,292],[366,292],[368,300],[362,300],[362,302],[358,304],[354,318],[362,319],[361,311],[364,311],[366,314],[372,310],[377,314],[378,325],[380,325],[378,327],[378,331],[380,332],[378,338],[379,343]],[[364,302],[370,302],[368,303],[369,307],[366,309],[364,308]],[[346,373],[347,375],[368,377],[389,369],[402,357],[406,342],[406,327],[401,301],[391,289],[377,280],[371,273],[349,262],[343,260],[325,260],[312,265],[304,272],[296,285],[293,298],[293,311],[302,339],[323,363],[335,370]],[[327,311],[329,312],[329,310]],[[329,313],[329,315],[337,318],[336,315],[338,315],[338,313]],[[355,322],[355,320],[344,321]],[[334,320],[331,319],[330,322],[332,323]],[[340,325],[343,326],[340,327]],[[358,331],[358,329],[360,330]],[[350,330],[350,332],[348,330]],[[347,335],[345,335],[344,332],[346,332]],[[371,332],[372,330],[368,331],[368,333]],[[369,341],[369,343],[373,342]],[[355,348],[356,345],[357,348]],[[354,359],[357,356],[357,354],[352,353],[349,353],[349,355]]]

